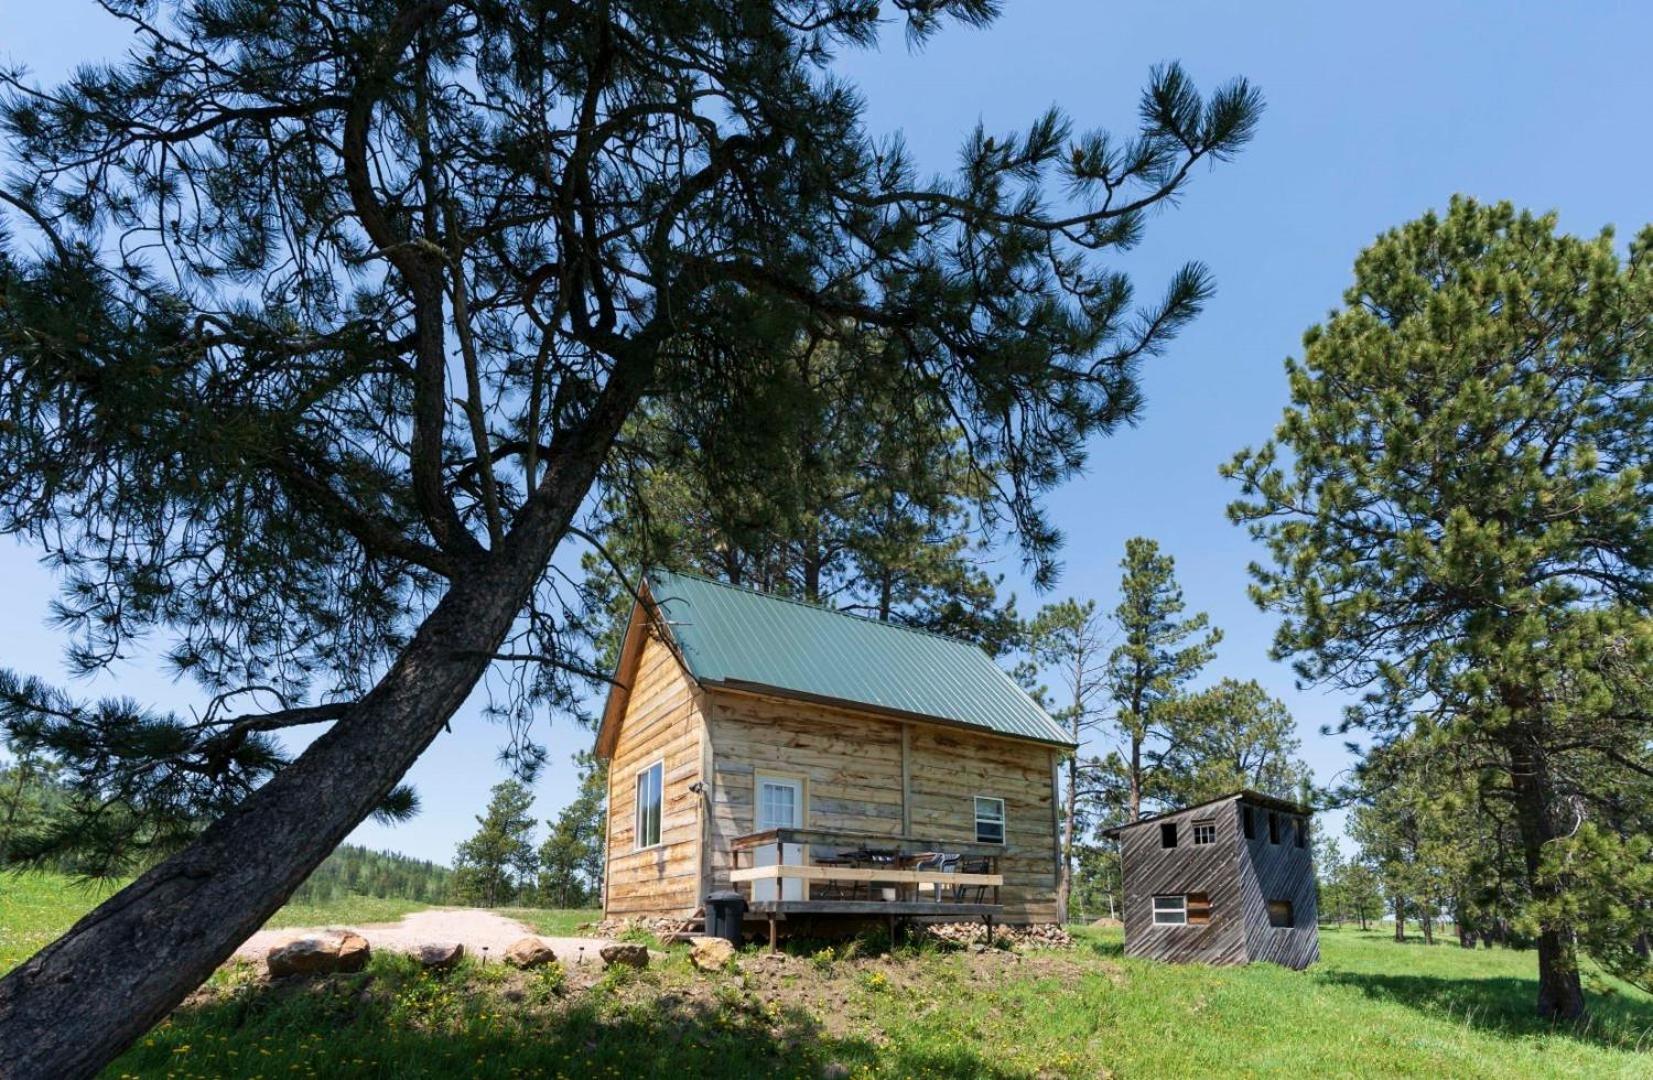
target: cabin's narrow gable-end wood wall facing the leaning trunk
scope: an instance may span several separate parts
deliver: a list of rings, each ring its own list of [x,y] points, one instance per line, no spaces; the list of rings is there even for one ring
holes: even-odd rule
[[[701,695],[676,657],[650,633],[608,762],[608,875],[613,916],[694,911],[701,905]],[[636,777],[663,761],[660,845],[635,850]]]

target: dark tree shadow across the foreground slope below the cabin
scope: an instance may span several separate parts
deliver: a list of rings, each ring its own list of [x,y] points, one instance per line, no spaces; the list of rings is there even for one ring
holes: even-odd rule
[[[970,1049],[874,1045],[737,979],[615,971],[587,989],[503,968],[369,972],[220,987],[179,1009],[109,1075],[137,1077],[1003,1077]]]

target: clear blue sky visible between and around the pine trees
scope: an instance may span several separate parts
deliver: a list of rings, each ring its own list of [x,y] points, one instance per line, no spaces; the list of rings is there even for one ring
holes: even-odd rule
[[[1022,129],[1053,103],[1081,129],[1124,132],[1149,66],[1167,60],[1207,89],[1250,78],[1268,112],[1235,162],[1197,175],[1182,205],[1155,217],[1144,245],[1119,260],[1144,296],[1190,258],[1212,268],[1218,291],[1144,370],[1141,427],[1098,442],[1086,475],[1050,499],[1068,536],[1055,595],[1033,597],[1013,556],[998,569],[1025,610],[1056,595],[1112,605],[1124,541],[1159,539],[1177,557],[1190,607],[1227,632],[1210,678],[1256,678],[1284,698],[1304,756],[1329,781],[1349,759],[1341,739],[1317,731],[1342,701],[1298,691],[1291,671],[1268,660],[1273,619],[1245,594],[1258,552],[1223,516],[1233,491],[1217,466],[1268,437],[1286,402],[1281,361],[1337,304],[1355,253],[1382,230],[1445,208],[1455,192],[1557,210],[1580,233],[1615,225],[1627,237],[1653,220],[1653,5],[1005,7],[992,28],[949,30],[919,53],[893,35],[879,53],[845,56],[840,68],[865,91],[869,127],[903,131],[926,169],[950,169],[977,121],[990,132]],[[122,46],[122,28],[89,2],[0,0],[0,61],[25,63],[41,81]],[[61,640],[45,625],[53,584],[35,552],[0,541],[0,665],[60,680]],[[174,706],[197,698],[142,658],[78,690]],[[501,776],[499,739],[466,706],[410,776],[423,814],[362,825],[354,839],[446,862]],[[541,815],[572,797],[565,762],[588,741],[554,723]]]

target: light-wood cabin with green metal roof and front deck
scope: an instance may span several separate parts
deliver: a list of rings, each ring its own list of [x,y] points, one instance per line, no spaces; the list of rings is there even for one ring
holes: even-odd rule
[[[656,572],[613,683],[605,916],[1056,920],[1073,743],[975,645]]]

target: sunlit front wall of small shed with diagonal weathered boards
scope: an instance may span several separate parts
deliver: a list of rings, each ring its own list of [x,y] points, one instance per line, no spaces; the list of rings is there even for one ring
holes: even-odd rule
[[[1215,843],[1193,843],[1193,822],[1217,827]],[[1177,827],[1177,847],[1165,848],[1160,825]],[[1245,905],[1238,860],[1245,839],[1233,802],[1203,805],[1121,834],[1126,954],[1172,963],[1246,963]],[[1212,916],[1205,926],[1155,926],[1154,896],[1205,893]]]

